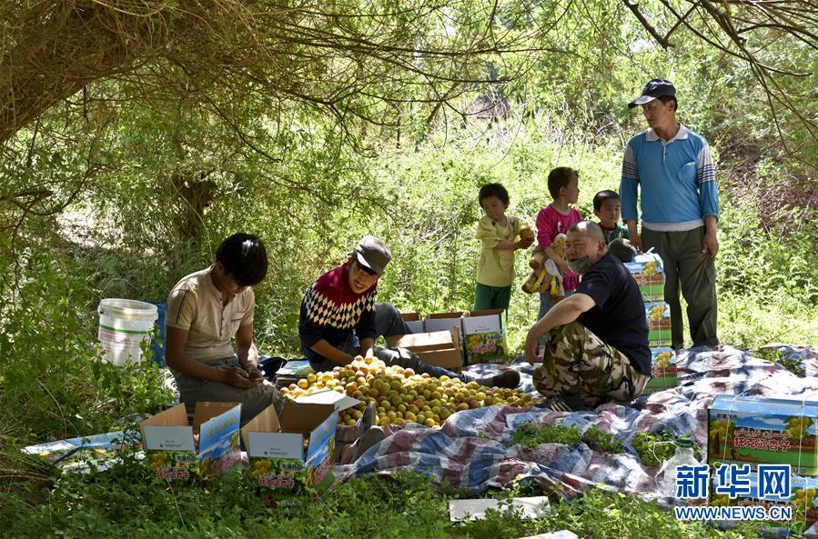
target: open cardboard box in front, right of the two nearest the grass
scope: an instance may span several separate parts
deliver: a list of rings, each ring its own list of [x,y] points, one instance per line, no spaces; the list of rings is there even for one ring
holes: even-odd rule
[[[264,504],[311,503],[334,483],[338,412],[359,401],[335,391],[325,393],[338,398],[325,395],[325,404],[288,400],[280,419],[275,407],[268,406],[242,427],[241,439],[250,463],[247,474],[259,487]]]

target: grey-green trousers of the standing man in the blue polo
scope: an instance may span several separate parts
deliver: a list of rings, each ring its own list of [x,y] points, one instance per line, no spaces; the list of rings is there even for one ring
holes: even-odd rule
[[[642,228],[645,250],[661,256],[664,266],[664,301],[671,307],[673,348],[684,347],[682,303],[679,288],[687,302],[687,320],[693,346],[717,346],[716,266],[710,253],[702,253],[704,226],[686,232],[657,232]]]

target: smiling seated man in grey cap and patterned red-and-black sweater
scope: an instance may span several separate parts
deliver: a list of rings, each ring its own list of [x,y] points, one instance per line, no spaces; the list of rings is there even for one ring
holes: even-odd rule
[[[418,374],[465,380],[441,367],[425,364],[414,354],[375,349],[379,335],[412,333],[393,304],[376,304],[378,280],[392,259],[389,247],[365,235],[348,254],[347,262],[318,277],[301,300],[298,336],[301,351],[316,372],[331,371],[352,362],[356,355],[375,355],[386,364],[414,369]],[[516,387],[517,371],[475,379],[480,385]]]

